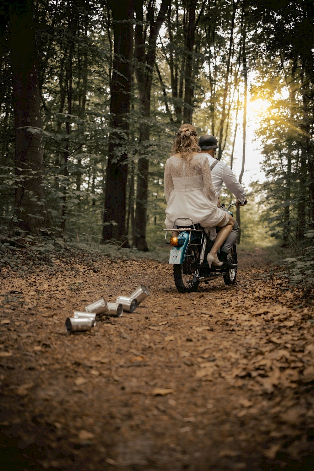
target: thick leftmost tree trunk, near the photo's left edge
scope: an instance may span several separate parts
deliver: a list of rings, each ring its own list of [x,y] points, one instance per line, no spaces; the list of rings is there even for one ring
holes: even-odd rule
[[[42,187],[43,154],[35,30],[31,0],[11,0],[10,40],[15,116],[16,216],[26,232],[49,225]]]

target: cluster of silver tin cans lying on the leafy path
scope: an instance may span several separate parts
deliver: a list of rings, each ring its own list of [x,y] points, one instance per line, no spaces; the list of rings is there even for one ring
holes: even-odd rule
[[[74,311],[73,317],[67,317],[65,330],[69,334],[89,331],[95,327],[97,315],[121,317],[124,311],[132,313],[147,296],[150,296],[150,292],[140,284],[129,296],[118,296],[115,302],[107,302],[101,297],[86,306],[85,311]]]

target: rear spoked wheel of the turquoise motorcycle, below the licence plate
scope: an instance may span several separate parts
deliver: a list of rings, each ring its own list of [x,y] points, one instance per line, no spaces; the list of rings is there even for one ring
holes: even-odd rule
[[[197,246],[188,245],[183,263],[173,266],[173,277],[175,285],[180,293],[196,291],[199,281],[196,281],[200,274],[199,268],[200,254]]]

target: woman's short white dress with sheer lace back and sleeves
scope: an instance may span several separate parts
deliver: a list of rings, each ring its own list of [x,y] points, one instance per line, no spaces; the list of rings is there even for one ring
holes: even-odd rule
[[[202,227],[221,224],[229,213],[217,207],[217,194],[213,187],[209,161],[206,155],[196,154],[189,162],[172,155],[165,163],[164,191],[167,201],[165,225],[174,227],[177,218],[191,218]],[[189,219],[180,220],[180,226],[191,225]],[[211,238],[211,237],[210,237]]]

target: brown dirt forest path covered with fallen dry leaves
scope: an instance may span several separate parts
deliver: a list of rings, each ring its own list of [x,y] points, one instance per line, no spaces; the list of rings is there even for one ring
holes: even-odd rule
[[[0,273],[0,470],[314,469],[314,309],[265,253],[187,294],[168,263],[29,253]],[[139,284],[134,313],[65,333]]]

